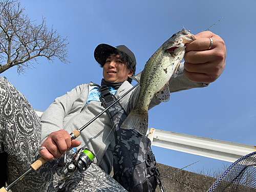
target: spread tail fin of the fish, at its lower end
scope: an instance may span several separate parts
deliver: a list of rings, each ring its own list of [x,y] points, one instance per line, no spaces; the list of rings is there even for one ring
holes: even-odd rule
[[[146,135],[148,124],[148,113],[136,114],[134,110],[126,117],[126,119],[121,124],[121,129],[133,130],[135,129],[141,135]]]

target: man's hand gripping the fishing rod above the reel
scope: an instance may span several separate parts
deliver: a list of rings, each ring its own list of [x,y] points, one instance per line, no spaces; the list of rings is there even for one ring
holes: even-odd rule
[[[80,144],[80,141],[71,141],[70,134],[65,130],[59,130],[51,133],[45,142],[42,143],[42,146],[46,147],[46,149],[41,150],[40,155],[42,158],[52,161]]]

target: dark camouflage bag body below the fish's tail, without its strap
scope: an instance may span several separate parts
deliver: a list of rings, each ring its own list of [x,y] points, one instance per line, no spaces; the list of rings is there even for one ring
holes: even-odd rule
[[[129,191],[154,191],[147,178],[154,175],[151,141],[136,130],[116,130],[114,178]],[[147,189],[145,189],[147,188]]]

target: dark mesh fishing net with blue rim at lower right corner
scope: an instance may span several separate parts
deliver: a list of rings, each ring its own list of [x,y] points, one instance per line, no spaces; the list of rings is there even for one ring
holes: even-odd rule
[[[256,152],[231,164],[207,192],[256,191]]]

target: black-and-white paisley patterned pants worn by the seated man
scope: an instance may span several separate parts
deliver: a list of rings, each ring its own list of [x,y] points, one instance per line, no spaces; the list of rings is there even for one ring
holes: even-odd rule
[[[30,168],[40,155],[41,124],[32,106],[6,79],[0,77],[0,153],[7,154],[7,183]],[[72,152],[69,156],[73,156]],[[48,161],[11,188],[15,191],[57,191],[62,167]],[[4,166],[4,165],[1,165]],[[2,174],[2,173],[1,173]],[[66,183],[65,191],[126,191],[97,165],[78,173]]]

